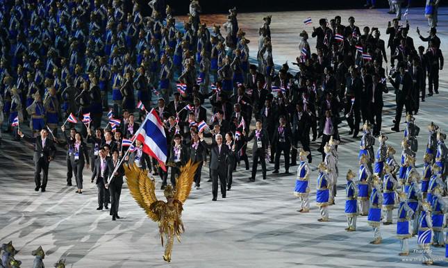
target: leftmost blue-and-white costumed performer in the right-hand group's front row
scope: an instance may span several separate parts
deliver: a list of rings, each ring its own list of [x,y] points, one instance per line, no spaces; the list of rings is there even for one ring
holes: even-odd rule
[[[300,197],[301,199],[301,209],[298,211],[303,213],[310,212],[310,202],[308,200],[308,196],[310,193],[309,177],[311,168],[310,165],[308,165],[308,160],[306,159],[306,156],[308,156],[308,154],[308,151],[300,149],[300,164],[299,168],[297,168],[296,185],[294,187],[294,195]]]

